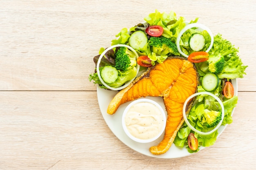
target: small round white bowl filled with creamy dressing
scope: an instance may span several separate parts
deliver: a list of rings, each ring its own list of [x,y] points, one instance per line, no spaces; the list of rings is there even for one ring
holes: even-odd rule
[[[166,113],[153,100],[137,99],[124,110],[122,126],[126,135],[133,141],[149,143],[163,134],[166,126]]]

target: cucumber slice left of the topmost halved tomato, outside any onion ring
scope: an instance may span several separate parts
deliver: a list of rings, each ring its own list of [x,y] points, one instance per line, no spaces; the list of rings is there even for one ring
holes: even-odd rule
[[[129,39],[130,46],[135,50],[141,50],[148,43],[148,37],[143,31],[135,31]]]

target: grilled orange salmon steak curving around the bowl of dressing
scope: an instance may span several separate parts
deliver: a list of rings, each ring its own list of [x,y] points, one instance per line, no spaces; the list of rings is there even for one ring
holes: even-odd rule
[[[165,153],[173,144],[178,130],[184,123],[183,105],[186,99],[196,93],[198,73],[195,65],[183,57],[168,57],[163,63],[148,68],[128,87],[122,89],[108,106],[108,114],[118,107],[139,97],[162,97],[167,112],[164,139],[150,148],[155,155]]]

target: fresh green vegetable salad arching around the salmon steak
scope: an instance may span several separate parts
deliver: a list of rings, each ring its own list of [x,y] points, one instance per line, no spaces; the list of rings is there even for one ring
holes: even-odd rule
[[[212,35],[206,26],[198,24],[198,18],[187,22],[183,17],[177,18],[173,11],[160,13],[156,10],[144,20],[130,29],[121,29],[111,43],[111,46],[125,44],[132,47],[138,57],[123,47],[109,51],[99,64],[100,73],[92,73],[89,80],[101,88],[107,88],[99,80],[100,74],[106,83],[120,87],[135,75],[136,64],[143,71],[162,63],[168,56],[181,56],[193,62],[197,68],[200,76],[197,91],[215,95],[225,108],[220,109],[216,99],[210,95],[198,95],[187,115],[191,125],[196,130],[207,132],[220,122],[222,125],[231,124],[232,110],[238,101],[232,79],[243,78],[247,68],[238,55],[238,48],[220,33]],[[104,50],[101,48],[99,55],[94,57],[95,64]],[[202,135],[184,123],[173,143],[178,147],[186,147],[192,153],[198,152],[200,146],[213,145],[217,136],[218,130]]]

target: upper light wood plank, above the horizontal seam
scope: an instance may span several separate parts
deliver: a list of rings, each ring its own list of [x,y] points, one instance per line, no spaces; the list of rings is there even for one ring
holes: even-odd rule
[[[244,64],[249,65],[239,90],[255,90],[255,83],[248,84],[256,82],[253,0],[150,4],[155,1],[2,1],[0,89],[96,90],[88,80],[94,72],[92,58],[101,47],[110,46],[122,28],[143,22],[158,9],[173,10],[188,21],[199,17],[198,22],[239,47]]]

